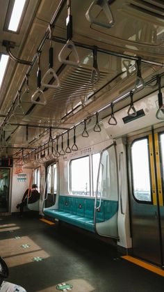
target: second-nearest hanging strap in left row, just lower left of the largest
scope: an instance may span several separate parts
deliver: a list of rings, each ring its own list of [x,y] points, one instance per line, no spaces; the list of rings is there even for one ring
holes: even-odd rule
[[[41,84],[42,86],[46,87],[47,89],[58,89],[60,86],[60,80],[58,79],[58,75],[56,75],[56,72],[53,69],[54,66],[54,49],[52,47],[52,38],[51,38],[51,26],[49,24],[49,40],[50,40],[50,48],[49,48],[49,70],[45,72],[44,76],[42,77]],[[50,75],[50,77],[54,78],[54,81],[57,82],[57,84],[48,84],[44,80]]]

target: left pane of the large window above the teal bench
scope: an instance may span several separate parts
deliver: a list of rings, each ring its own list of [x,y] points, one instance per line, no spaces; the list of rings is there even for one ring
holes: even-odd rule
[[[89,157],[72,160],[70,167],[72,194],[90,196]]]

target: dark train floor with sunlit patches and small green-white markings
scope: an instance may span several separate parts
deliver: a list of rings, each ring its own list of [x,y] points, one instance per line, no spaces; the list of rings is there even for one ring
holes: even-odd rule
[[[88,234],[32,215],[0,216],[0,224],[0,255],[9,268],[8,282],[27,292],[63,287],[72,292],[163,291],[163,277],[125,261],[114,247]]]

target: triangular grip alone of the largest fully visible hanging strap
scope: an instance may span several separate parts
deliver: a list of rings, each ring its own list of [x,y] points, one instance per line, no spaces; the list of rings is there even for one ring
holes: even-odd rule
[[[65,59],[65,51],[67,50],[71,51],[74,54],[74,58],[76,61],[69,61]],[[77,53],[76,47],[72,40],[68,40],[64,47],[61,49],[60,53],[58,54],[58,60],[66,65],[79,66],[80,63],[79,54]]]

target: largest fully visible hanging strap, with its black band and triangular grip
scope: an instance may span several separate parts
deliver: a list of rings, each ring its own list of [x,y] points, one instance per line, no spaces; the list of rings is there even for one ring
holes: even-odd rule
[[[66,65],[70,66],[79,66],[80,59],[79,54],[76,51],[76,47],[72,42],[72,15],[71,15],[71,0],[67,0],[67,18],[66,18],[66,31],[67,31],[67,43],[61,49],[60,53],[58,54],[58,60]],[[69,55],[72,53],[74,55],[75,61],[70,61],[65,58],[66,52],[69,52]]]

